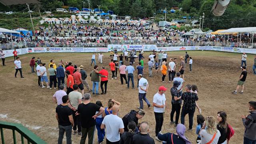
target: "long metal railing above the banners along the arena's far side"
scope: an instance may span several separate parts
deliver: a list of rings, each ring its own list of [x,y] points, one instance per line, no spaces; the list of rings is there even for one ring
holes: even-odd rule
[[[240,47],[240,48],[256,48],[255,43],[240,42],[164,42],[156,40],[108,40],[108,42],[21,42],[0,44],[0,49],[8,50],[14,48],[41,48],[41,47],[108,47],[108,44],[156,44],[158,47],[168,46],[224,46],[224,47]]]

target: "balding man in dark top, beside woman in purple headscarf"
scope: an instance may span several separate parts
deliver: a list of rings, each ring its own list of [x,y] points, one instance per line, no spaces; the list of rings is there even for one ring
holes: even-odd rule
[[[148,134],[149,125],[147,122],[140,124],[140,132],[132,137],[132,144],[155,144],[154,139]]]

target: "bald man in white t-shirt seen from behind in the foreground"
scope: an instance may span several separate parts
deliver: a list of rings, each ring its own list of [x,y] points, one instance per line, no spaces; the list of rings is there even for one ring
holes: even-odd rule
[[[124,123],[122,118],[117,116],[119,110],[118,105],[112,107],[112,114],[104,117],[101,129],[106,128],[106,143],[116,143],[119,144],[120,134],[124,133]]]

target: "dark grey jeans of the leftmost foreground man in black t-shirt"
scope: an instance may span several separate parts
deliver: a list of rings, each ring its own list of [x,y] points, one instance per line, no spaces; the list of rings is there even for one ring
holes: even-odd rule
[[[59,125],[59,138],[58,144],[62,144],[64,132],[66,132],[66,141],[67,144],[72,144],[71,135],[72,135],[72,125],[70,126],[61,126]]]

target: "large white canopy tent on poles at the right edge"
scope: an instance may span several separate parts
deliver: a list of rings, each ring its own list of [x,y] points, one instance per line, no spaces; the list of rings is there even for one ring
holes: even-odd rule
[[[253,47],[253,36],[256,33],[256,27],[245,27],[245,28],[230,28],[228,30],[223,30],[221,32],[218,33],[230,33],[230,32],[240,32],[240,44],[241,45],[241,35],[244,32],[249,32],[249,33],[253,33],[252,35],[252,47]]]

